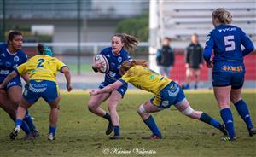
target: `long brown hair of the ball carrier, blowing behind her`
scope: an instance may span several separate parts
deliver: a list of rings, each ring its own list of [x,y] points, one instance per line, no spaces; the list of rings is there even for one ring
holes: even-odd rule
[[[121,38],[122,43],[124,43],[124,48],[129,52],[133,51],[137,47],[137,44],[139,44],[137,38],[129,34],[116,33],[113,35],[113,37]]]

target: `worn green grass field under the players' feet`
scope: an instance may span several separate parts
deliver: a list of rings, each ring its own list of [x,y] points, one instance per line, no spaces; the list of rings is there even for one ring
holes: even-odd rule
[[[105,135],[105,119],[87,110],[88,94],[62,95],[61,110],[53,142],[47,140],[49,107],[40,100],[31,109],[41,137],[23,141],[23,133],[15,141],[9,140],[14,124],[0,110],[0,156],[256,156],[256,137],[249,137],[236,109],[232,107],[236,136],[235,142],[220,141],[221,133],[200,121],[189,119],[171,108],[154,113],[162,131],[163,140],[145,141],[150,134],[137,115],[137,108],[152,95],[130,93],[119,103],[119,118],[123,140],[111,141]],[[253,123],[256,119],[255,92],[243,95],[250,108]],[[201,109],[220,120],[218,106],[212,93],[187,93],[191,106]],[[102,108],[107,108],[104,103]],[[255,124],[256,125],[256,124]],[[113,151],[119,150],[119,152]],[[140,152],[137,152],[140,149]]]

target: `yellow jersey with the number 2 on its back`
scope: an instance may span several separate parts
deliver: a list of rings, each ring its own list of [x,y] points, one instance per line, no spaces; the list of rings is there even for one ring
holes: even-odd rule
[[[28,73],[32,80],[49,80],[56,82],[57,71],[67,67],[63,62],[49,55],[35,55],[25,63],[16,67],[20,74]]]

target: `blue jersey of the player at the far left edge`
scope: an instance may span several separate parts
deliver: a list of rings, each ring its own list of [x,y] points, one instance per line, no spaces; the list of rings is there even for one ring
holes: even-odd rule
[[[23,50],[18,50],[15,54],[9,53],[8,44],[0,44],[0,83],[11,73],[15,67],[26,62],[27,55]],[[20,79],[19,76],[16,79]]]

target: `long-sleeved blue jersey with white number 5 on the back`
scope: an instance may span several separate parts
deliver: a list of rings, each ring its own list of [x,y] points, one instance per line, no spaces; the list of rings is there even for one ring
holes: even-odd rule
[[[244,50],[241,50],[241,45]],[[253,42],[237,26],[220,25],[207,36],[204,58],[208,62],[214,50],[215,61],[243,61],[243,56],[253,51]]]

